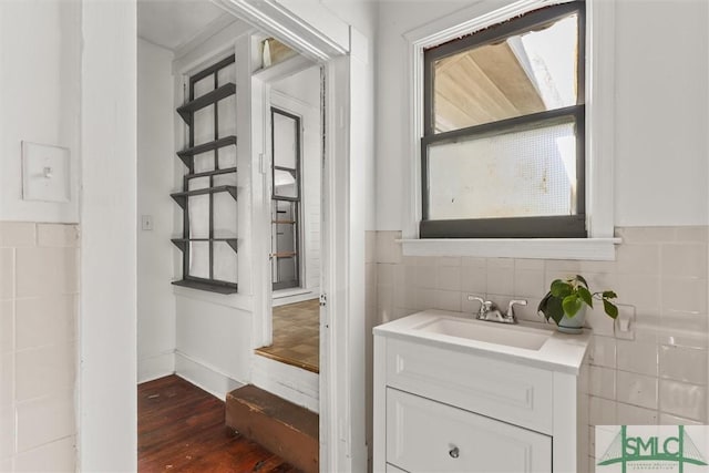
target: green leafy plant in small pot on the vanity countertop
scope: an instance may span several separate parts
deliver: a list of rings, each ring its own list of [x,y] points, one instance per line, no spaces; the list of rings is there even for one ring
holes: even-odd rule
[[[540,302],[537,311],[548,321],[553,319],[559,331],[580,333],[584,326],[586,306],[594,307],[594,299],[603,301],[608,317],[618,317],[618,307],[610,301],[618,296],[612,290],[592,292],[583,276],[568,279],[555,279],[549,291]]]

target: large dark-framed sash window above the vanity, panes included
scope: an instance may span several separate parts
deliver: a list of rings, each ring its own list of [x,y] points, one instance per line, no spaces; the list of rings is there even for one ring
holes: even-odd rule
[[[422,238],[586,237],[584,2],[424,50]]]

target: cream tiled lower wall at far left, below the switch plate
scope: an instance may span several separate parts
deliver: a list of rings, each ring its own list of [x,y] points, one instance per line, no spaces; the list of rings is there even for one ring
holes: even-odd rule
[[[75,470],[76,225],[0,222],[0,471]]]

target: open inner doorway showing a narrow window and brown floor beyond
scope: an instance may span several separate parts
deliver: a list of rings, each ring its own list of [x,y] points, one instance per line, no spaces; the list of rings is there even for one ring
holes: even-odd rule
[[[273,333],[271,343],[256,353],[318,373],[322,71],[301,56],[290,61],[300,62],[300,69],[269,80],[264,104],[270,163]]]

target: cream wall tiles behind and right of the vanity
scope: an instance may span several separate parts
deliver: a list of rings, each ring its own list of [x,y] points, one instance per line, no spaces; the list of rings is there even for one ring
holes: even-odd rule
[[[707,227],[617,228],[615,261],[572,261],[405,257],[394,241],[400,233],[370,232],[369,326],[428,308],[473,312],[470,294],[503,307],[527,299],[518,315],[538,321],[548,284],[582,274],[592,289],[616,290],[636,316],[628,339],[603,311],[587,315],[595,333],[590,424],[707,423]]]

